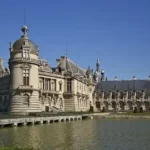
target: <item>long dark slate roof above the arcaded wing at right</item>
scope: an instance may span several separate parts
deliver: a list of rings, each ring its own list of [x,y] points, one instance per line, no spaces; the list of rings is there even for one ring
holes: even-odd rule
[[[96,90],[101,91],[150,90],[150,80],[101,81],[97,84]]]

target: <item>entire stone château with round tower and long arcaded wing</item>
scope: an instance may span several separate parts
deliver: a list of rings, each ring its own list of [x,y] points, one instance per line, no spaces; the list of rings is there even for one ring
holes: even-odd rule
[[[0,59],[0,112],[150,110],[150,77],[108,81],[98,59],[93,71],[66,56],[52,68],[28,38],[28,27],[21,30],[22,36],[10,43],[9,69]]]

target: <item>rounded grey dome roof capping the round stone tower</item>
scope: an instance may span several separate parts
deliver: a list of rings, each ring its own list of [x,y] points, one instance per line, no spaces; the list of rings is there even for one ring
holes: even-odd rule
[[[36,47],[36,45],[26,37],[21,37],[13,44],[13,51],[20,50],[25,42],[28,42],[29,47],[31,48],[31,52],[38,52],[38,48]]]

